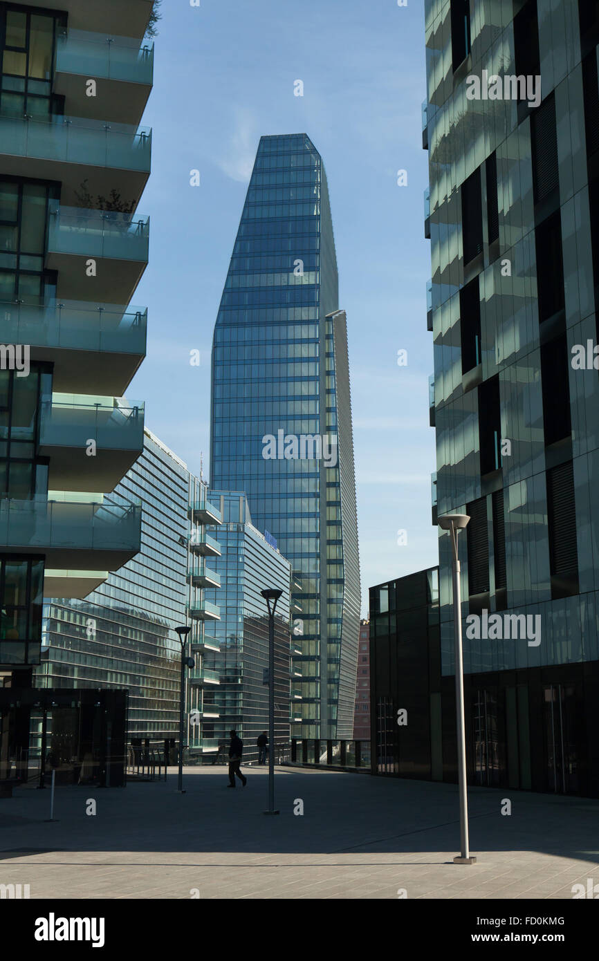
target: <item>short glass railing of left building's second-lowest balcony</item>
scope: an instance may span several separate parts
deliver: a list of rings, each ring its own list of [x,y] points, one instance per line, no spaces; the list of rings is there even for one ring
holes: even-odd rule
[[[90,439],[101,449],[143,449],[143,404],[117,397],[53,394],[42,398],[40,444],[85,450]]]

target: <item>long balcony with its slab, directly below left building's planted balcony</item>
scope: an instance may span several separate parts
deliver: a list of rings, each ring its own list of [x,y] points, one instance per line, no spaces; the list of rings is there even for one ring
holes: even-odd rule
[[[0,320],[4,343],[29,344],[32,360],[54,363],[59,391],[121,396],[145,357],[146,308],[0,301]]]

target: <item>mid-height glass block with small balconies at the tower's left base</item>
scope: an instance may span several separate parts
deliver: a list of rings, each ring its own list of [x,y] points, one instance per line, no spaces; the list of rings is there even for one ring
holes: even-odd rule
[[[261,591],[278,588],[275,608],[275,742],[287,744],[292,717],[299,716],[301,675],[292,667],[290,635],[291,565],[274,539],[252,524],[245,494],[211,488],[222,517],[217,530],[221,554],[212,561],[219,589],[207,587],[205,604],[218,604],[201,670],[191,672],[190,692],[203,696],[204,741],[209,754],[228,744],[229,731],[243,740],[244,761],[256,762],[256,741],[268,730],[268,611]],[[193,710],[193,703],[191,704]],[[212,711],[212,714],[211,714]],[[189,742],[193,754],[193,737]]]

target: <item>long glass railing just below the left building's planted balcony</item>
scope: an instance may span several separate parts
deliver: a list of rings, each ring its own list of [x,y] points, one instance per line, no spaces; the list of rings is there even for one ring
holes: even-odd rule
[[[147,308],[56,298],[43,305],[0,301],[0,317],[7,344],[145,355]]]

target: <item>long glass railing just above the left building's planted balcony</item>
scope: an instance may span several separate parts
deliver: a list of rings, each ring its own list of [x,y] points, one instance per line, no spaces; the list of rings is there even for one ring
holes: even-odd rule
[[[0,116],[3,154],[150,172],[152,131],[127,124],[56,116],[48,121]]]

